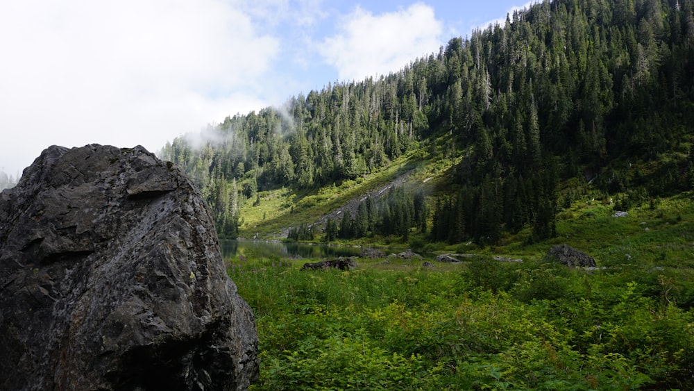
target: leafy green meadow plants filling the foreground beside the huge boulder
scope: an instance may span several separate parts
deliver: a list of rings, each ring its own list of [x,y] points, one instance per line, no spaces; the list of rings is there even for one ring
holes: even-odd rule
[[[350,272],[278,260],[230,267],[257,317],[252,389],[694,386],[690,269],[392,262],[360,260]]]

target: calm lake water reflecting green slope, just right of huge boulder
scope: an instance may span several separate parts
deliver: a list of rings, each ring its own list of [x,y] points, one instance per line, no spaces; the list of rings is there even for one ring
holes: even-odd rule
[[[331,258],[339,256],[358,256],[361,249],[346,246],[327,246],[325,244],[285,243],[265,240],[219,240],[221,253],[225,260],[244,256],[251,260],[273,260],[294,258]]]

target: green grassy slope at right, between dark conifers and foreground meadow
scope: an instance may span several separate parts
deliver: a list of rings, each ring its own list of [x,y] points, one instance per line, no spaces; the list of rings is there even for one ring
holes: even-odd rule
[[[575,201],[557,215],[557,238],[528,243],[530,228],[506,235],[497,246],[443,246],[446,251],[502,254],[539,260],[555,244],[566,243],[593,256],[599,266],[694,267],[694,194],[654,200],[614,217],[609,197]]]

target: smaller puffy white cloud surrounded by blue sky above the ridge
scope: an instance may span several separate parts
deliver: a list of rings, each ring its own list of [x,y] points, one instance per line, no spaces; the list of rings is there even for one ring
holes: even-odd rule
[[[442,24],[423,3],[394,13],[372,15],[358,7],[338,25],[339,34],[325,38],[319,50],[341,80],[362,80],[396,72],[415,58],[441,46]]]

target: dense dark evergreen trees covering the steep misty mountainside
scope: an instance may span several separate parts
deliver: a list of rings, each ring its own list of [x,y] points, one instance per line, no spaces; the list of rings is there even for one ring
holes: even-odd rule
[[[259,191],[355,180],[408,154],[443,162],[416,217],[415,192],[393,193],[408,205],[401,220],[433,241],[493,243],[526,227],[555,235],[588,184],[623,209],[691,189],[693,124],[694,0],[555,0],[388,76],[227,117],[161,155],[192,176],[228,237]],[[349,237],[393,218],[383,205]],[[340,235],[343,222],[330,224]]]

